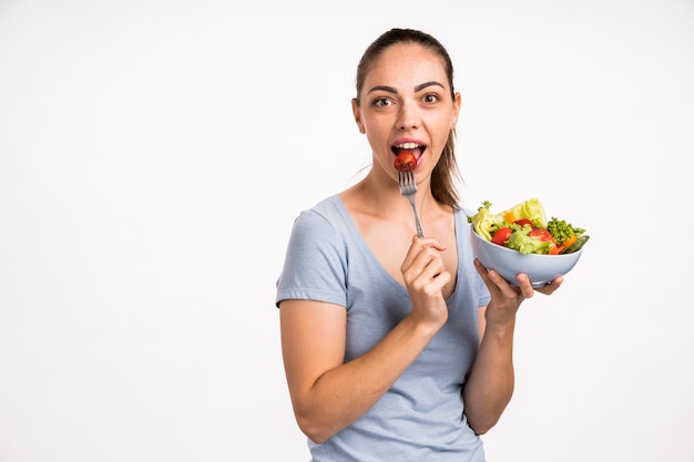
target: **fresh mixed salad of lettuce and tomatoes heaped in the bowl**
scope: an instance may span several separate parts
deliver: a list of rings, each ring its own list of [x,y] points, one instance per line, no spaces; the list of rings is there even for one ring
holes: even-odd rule
[[[538,198],[522,202],[507,211],[493,214],[491,203],[482,202],[477,214],[469,216],[474,232],[493,244],[521,254],[560,255],[576,251],[588,242],[585,229],[563,219],[549,222]]]

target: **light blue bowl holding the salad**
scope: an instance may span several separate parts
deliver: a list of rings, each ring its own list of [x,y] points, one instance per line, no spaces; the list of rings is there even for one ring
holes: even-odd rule
[[[487,269],[494,269],[502,278],[513,286],[518,286],[516,276],[524,273],[530,278],[532,287],[542,287],[557,276],[569,273],[581,258],[583,249],[571,254],[538,255],[521,254],[498,244],[493,244],[474,233],[470,227],[470,243],[472,253]]]

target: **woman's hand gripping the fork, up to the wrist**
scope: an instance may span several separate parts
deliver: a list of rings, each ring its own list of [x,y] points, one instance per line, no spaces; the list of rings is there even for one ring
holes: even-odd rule
[[[411,315],[437,329],[448,319],[443,289],[452,279],[443,267],[443,250],[437,239],[415,236],[400,267],[412,301]]]

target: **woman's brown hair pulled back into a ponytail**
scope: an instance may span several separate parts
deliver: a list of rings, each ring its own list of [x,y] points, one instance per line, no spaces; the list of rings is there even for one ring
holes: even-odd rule
[[[390,29],[376,39],[364,52],[359,65],[357,66],[357,97],[355,99],[357,104],[360,104],[359,95],[364,89],[364,81],[369,73],[374,63],[384,54],[384,52],[398,43],[414,43],[423,47],[427,50],[432,51],[443,63],[446,69],[446,76],[448,78],[448,84],[451,90],[451,97],[455,97],[453,92],[453,63],[446,51],[446,48],[433,37],[428,33],[414,30],[414,29]],[[458,165],[456,163],[456,130],[451,129],[441,153],[439,163],[431,172],[431,194],[438,202],[449,205],[453,208],[458,207],[459,197],[456,189],[456,178],[460,178],[460,172],[458,172]]]

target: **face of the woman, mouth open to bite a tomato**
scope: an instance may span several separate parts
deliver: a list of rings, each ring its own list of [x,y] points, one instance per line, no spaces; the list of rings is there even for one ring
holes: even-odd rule
[[[442,59],[418,44],[395,44],[374,63],[359,100],[353,110],[371,145],[372,170],[396,178],[395,157],[407,150],[417,157],[417,182],[428,178],[460,111]]]

